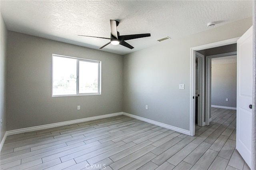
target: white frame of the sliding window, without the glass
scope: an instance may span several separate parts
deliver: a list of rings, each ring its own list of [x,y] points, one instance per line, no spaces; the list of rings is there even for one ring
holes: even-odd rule
[[[72,95],[53,95],[53,58],[54,57],[64,57],[70,59],[76,59],[76,94]],[[90,63],[98,63],[98,93],[79,93],[79,61],[85,61]],[[65,55],[52,54],[52,97],[61,96],[82,96],[82,95],[101,95],[101,61],[83,59],[78,57],[70,57]]]

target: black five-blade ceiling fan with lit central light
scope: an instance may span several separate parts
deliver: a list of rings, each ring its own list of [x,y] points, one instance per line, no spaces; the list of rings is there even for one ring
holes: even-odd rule
[[[126,35],[126,36],[120,36],[119,32],[117,31],[117,26],[118,26],[119,22],[116,20],[110,20],[110,28],[111,28],[111,34],[110,34],[110,38],[104,38],[104,37],[94,37],[94,36],[85,36],[85,37],[94,37],[94,38],[104,38],[104,39],[108,39],[110,40],[110,42],[106,43],[105,45],[103,45],[102,47],[100,47],[100,49],[106,47],[108,44],[113,44],[113,45],[123,45],[125,47],[128,47],[130,49],[133,49],[134,47],[130,44],[128,44],[127,42],[125,42],[125,40],[132,40],[132,39],[136,39],[136,38],[144,38],[144,37],[150,37],[150,34],[133,34],[133,35]],[[78,36],[83,36],[83,35],[78,35]]]

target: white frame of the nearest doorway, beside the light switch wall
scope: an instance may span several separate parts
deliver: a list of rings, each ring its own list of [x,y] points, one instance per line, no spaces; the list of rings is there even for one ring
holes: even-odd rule
[[[239,37],[190,48],[190,135],[191,136],[195,135],[196,51],[234,44],[237,42],[238,39]]]

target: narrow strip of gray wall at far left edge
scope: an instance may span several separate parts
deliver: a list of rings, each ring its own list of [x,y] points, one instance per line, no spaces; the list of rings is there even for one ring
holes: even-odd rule
[[[0,14],[0,119],[3,121],[0,127],[0,141],[6,132],[6,45],[7,30]]]

